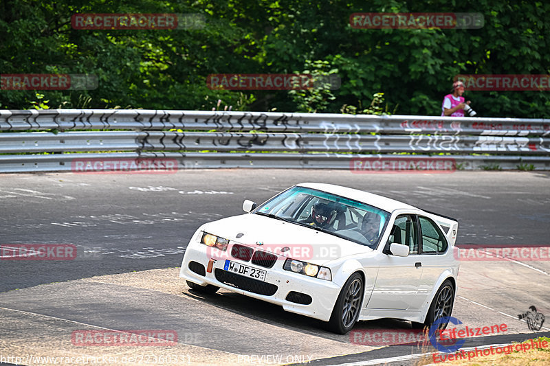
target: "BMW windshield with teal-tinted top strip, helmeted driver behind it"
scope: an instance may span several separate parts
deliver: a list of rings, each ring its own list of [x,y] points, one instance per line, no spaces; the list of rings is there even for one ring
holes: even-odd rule
[[[389,212],[366,203],[306,187],[292,187],[263,203],[253,214],[281,218],[376,248]]]

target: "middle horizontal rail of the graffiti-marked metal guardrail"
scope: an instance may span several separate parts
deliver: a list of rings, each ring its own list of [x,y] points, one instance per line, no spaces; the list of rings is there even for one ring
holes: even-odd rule
[[[415,152],[548,155],[550,138],[329,133],[2,133],[0,153],[122,151]]]

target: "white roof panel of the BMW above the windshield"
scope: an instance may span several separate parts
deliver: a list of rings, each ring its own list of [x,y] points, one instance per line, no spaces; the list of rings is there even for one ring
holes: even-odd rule
[[[396,209],[421,209],[408,205],[406,203],[396,201],[392,198],[380,196],[369,192],[355,190],[354,188],[342,187],[342,185],[326,184],[326,183],[299,183],[300,187],[313,188],[314,190],[320,190],[331,194],[338,194],[338,196],[344,196],[351,198],[355,201],[367,203],[371,206],[384,209],[384,211],[395,211]]]

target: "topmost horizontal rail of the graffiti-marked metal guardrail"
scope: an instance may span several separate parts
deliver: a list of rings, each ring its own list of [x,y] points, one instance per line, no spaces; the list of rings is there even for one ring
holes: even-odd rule
[[[217,130],[549,136],[550,119],[311,113],[49,109],[0,111],[0,130]]]

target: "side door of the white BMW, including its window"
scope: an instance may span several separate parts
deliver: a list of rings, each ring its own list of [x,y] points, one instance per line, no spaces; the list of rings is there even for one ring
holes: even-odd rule
[[[395,218],[386,248],[391,242],[408,245],[409,255],[397,257],[380,253],[377,279],[366,308],[419,309],[423,301],[418,293],[422,267],[419,265],[418,222],[415,215],[402,214]]]

